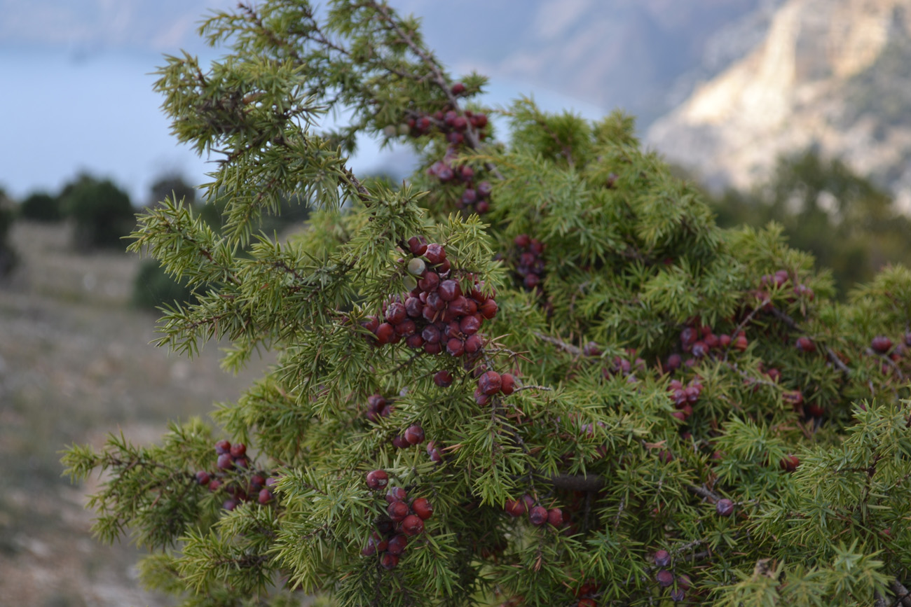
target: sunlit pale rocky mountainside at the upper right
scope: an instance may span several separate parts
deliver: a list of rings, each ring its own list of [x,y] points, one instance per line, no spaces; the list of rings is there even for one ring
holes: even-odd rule
[[[650,126],[713,188],[751,187],[816,147],[911,208],[911,0],[787,0],[763,40]]]

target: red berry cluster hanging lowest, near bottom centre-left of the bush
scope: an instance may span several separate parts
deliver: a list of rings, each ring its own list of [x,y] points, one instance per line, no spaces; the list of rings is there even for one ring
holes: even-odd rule
[[[367,473],[367,487],[371,490],[381,490],[388,484],[389,475],[385,470]],[[376,522],[376,531],[367,540],[361,554],[382,554],[380,564],[388,570],[398,565],[408,538],[424,532],[424,521],[433,516],[434,507],[426,498],[417,498],[409,503],[402,487],[389,487],[385,499],[387,516]]]

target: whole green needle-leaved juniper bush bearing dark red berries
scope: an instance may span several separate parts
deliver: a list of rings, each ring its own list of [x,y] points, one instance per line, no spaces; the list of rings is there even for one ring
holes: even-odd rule
[[[908,600],[911,272],[835,299],[781,227],[718,228],[629,116],[522,99],[497,142],[484,78],[374,0],[241,5],[201,33],[227,54],[168,57],[156,86],[220,158],[223,229],[166,198],[130,248],[196,296],[159,345],[278,358],[220,430],[67,451],[74,479],[105,473],[95,531],[148,546],[148,586],[194,606]],[[422,166],[361,180],[360,135]],[[280,241],[259,227],[289,199],[313,211]]]

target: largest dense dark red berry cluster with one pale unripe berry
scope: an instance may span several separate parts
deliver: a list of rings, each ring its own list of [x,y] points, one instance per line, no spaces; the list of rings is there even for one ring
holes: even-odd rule
[[[454,357],[477,354],[484,346],[477,332],[485,319],[496,316],[496,300],[482,292],[478,281],[467,296],[463,294],[443,245],[412,237],[407,248],[415,256],[407,262],[407,271],[418,278],[415,288],[385,304],[382,322],[370,317],[363,327],[378,345],[404,339],[409,348],[427,354],[444,349]]]

